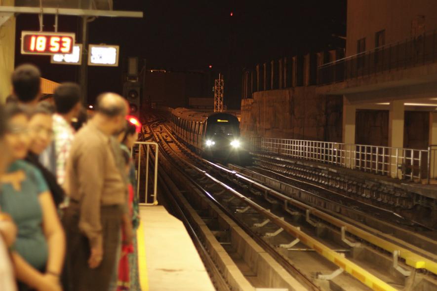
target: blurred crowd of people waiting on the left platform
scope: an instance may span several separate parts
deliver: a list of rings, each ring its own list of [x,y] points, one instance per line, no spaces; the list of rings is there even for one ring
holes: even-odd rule
[[[140,291],[130,152],[141,125],[104,93],[75,130],[79,85],[60,84],[48,102],[37,67],[11,81],[0,105],[0,290]]]

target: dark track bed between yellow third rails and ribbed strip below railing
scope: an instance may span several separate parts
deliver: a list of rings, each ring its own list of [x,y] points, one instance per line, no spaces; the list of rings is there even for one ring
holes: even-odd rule
[[[235,165],[231,165],[230,168],[268,184],[282,193],[287,193],[312,207],[327,211],[331,216],[347,219],[355,226],[367,229],[379,237],[397,242],[398,245],[402,245],[410,251],[437,261],[437,241],[432,236],[435,232],[421,231],[418,233],[417,227],[411,226],[408,220],[405,223],[405,219],[398,217],[395,213],[367,204],[362,205],[363,203],[359,201],[348,203],[350,202],[349,197],[342,197],[320,186],[296,181],[289,176],[265,168],[252,167],[247,169]],[[393,221],[397,223],[393,223]]]

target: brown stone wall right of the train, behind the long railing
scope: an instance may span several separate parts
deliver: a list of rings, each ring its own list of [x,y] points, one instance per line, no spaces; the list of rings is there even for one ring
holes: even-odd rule
[[[342,102],[315,86],[255,92],[241,101],[241,134],[341,142]]]

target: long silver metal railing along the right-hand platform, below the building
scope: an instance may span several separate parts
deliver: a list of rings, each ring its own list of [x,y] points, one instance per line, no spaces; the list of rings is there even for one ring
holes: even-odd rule
[[[252,150],[421,182],[437,175],[437,146],[412,149],[305,140],[250,138]]]

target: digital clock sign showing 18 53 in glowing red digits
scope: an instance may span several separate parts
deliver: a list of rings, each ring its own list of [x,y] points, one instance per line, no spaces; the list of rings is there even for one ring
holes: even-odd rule
[[[21,53],[24,55],[70,54],[74,33],[21,32]]]

